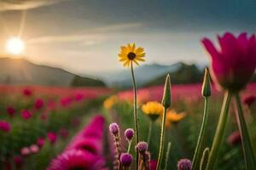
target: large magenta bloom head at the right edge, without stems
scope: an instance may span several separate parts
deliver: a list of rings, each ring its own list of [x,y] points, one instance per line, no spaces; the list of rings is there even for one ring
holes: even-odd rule
[[[202,43],[212,57],[212,79],[220,87],[240,91],[253,76],[256,67],[255,35],[247,38],[247,33],[235,37],[226,32],[218,37],[220,49],[214,47],[208,38]]]

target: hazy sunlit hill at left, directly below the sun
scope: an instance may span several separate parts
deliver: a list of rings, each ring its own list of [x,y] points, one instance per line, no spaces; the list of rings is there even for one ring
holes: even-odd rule
[[[46,86],[105,86],[104,82],[79,77],[68,71],[35,65],[26,59],[0,58],[0,83]]]

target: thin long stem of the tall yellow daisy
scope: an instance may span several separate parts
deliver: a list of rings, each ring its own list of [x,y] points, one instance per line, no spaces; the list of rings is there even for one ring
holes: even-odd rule
[[[134,116],[134,126],[135,126],[135,141],[136,144],[139,141],[139,133],[138,133],[138,125],[137,125],[137,85],[136,85],[136,81],[135,81],[135,77],[134,77],[134,71],[133,71],[133,65],[132,65],[132,61],[131,61],[131,77],[132,77],[132,82],[133,82],[133,97],[134,97],[134,101],[133,101],[133,116]],[[138,150],[136,150],[136,168],[138,167]]]

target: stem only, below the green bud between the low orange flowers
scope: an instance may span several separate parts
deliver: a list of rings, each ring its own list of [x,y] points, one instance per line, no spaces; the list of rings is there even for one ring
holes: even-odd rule
[[[160,149],[158,155],[158,161],[156,169],[159,170],[161,167],[163,152],[164,152],[164,144],[165,144],[165,130],[166,130],[166,107],[164,107],[164,115],[162,120],[161,134],[160,134]]]

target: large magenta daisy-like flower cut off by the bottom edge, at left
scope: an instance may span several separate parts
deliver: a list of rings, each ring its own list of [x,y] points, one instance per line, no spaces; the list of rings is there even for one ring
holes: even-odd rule
[[[82,150],[67,150],[50,162],[47,170],[96,170],[102,169],[103,161],[100,156]]]

